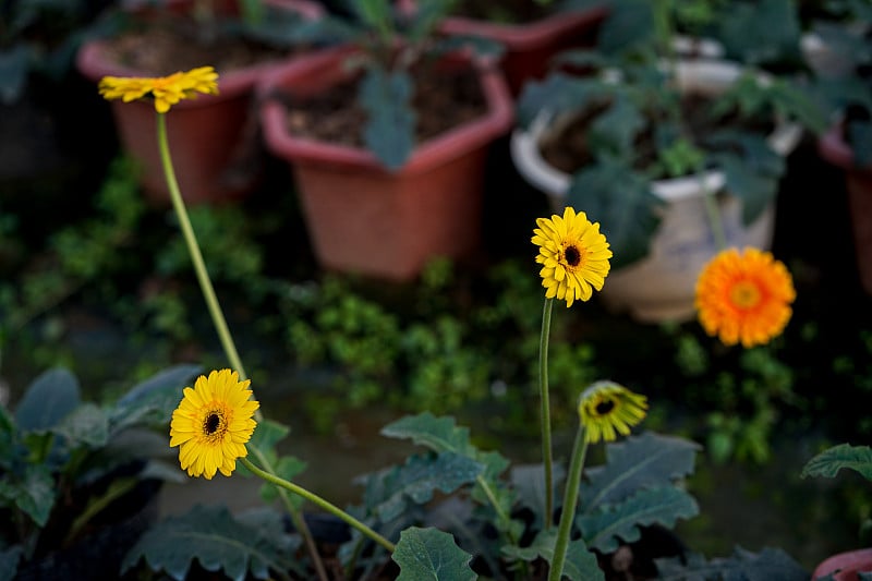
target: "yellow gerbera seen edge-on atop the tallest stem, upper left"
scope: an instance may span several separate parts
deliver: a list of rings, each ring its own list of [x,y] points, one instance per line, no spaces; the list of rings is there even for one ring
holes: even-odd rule
[[[197,93],[217,95],[218,73],[211,66],[201,66],[169,76],[104,76],[98,88],[108,100],[130,102],[150,96],[155,110],[166,113],[182,99],[195,99]]]

